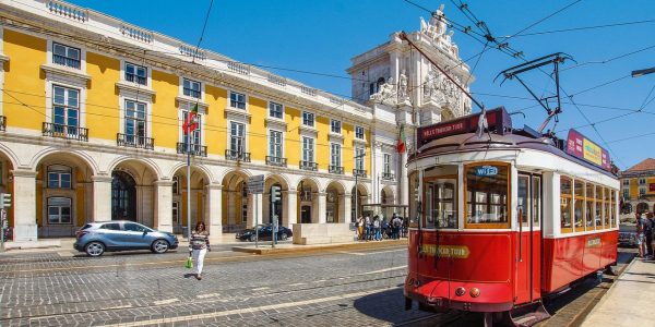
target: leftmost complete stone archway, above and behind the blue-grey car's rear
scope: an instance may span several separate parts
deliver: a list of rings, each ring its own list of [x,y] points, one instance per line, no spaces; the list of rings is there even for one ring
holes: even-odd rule
[[[82,152],[51,148],[34,158],[38,237],[73,235],[93,217],[95,162]]]

